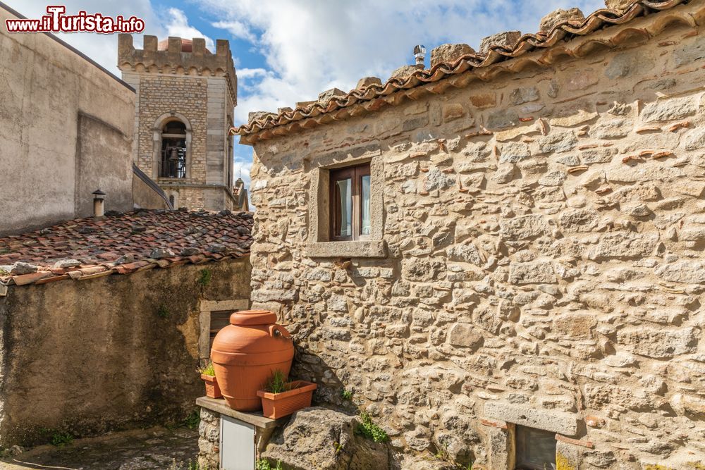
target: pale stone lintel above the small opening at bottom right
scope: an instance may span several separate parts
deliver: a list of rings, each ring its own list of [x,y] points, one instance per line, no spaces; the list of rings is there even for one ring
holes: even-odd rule
[[[522,407],[507,402],[486,402],[484,414],[489,418],[501,419],[509,423],[543,429],[552,433],[575,435],[577,417],[570,413]]]

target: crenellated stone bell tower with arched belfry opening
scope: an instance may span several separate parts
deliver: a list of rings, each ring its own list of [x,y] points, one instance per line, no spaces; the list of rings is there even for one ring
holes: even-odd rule
[[[135,88],[133,161],[174,208],[234,209],[233,125],[238,78],[226,39],[118,37],[118,68]]]

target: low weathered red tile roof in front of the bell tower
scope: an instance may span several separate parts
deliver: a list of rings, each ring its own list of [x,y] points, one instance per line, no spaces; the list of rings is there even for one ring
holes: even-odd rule
[[[0,287],[240,258],[252,223],[231,211],[138,210],[0,237]]]

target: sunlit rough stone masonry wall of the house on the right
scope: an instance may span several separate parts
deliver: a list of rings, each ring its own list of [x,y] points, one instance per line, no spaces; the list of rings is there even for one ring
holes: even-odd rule
[[[252,299],[318,400],[487,468],[512,449],[481,419],[581,469],[705,461],[705,37],[631,44],[255,145]],[[345,268],[305,242],[314,170],[353,156],[388,256]]]

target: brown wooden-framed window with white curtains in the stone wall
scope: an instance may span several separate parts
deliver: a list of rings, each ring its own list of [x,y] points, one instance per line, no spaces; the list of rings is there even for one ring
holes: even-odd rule
[[[369,240],[369,163],[331,170],[331,241]]]

